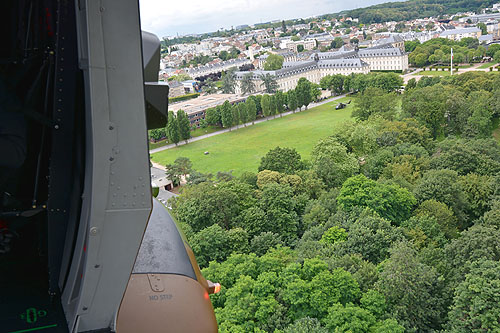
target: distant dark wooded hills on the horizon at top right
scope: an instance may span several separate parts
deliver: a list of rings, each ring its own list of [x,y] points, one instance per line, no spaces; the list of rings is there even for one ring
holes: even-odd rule
[[[409,0],[405,2],[388,2],[366,8],[342,11],[323,17],[333,18],[350,16],[358,18],[361,23],[382,23],[387,21],[406,21],[424,17],[436,17],[445,14],[474,11],[491,7],[498,0]]]

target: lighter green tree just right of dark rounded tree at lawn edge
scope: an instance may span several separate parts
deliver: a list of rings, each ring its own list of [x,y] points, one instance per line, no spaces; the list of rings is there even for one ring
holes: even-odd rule
[[[359,170],[356,157],[333,138],[320,140],[311,155],[314,171],[328,187],[340,186]]]

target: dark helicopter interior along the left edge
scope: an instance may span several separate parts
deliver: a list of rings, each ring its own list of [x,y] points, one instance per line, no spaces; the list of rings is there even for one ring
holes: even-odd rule
[[[0,332],[67,332],[84,175],[72,1],[0,2]]]

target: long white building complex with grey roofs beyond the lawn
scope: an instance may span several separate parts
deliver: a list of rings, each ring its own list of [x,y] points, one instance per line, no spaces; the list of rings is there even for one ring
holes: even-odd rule
[[[408,54],[391,43],[360,50],[341,48],[335,52],[314,53],[305,61],[285,61],[282,69],[274,71],[236,72],[238,84],[235,92],[241,94],[240,82],[248,73],[253,74],[256,92],[260,92],[264,90],[262,76],[267,74],[276,78],[279,90],[288,91],[295,89],[301,77],[319,83],[321,78],[327,75],[406,70],[408,70]]]

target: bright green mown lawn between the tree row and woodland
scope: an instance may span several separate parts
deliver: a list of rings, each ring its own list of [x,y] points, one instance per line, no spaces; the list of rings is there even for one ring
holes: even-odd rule
[[[197,171],[216,174],[232,170],[234,175],[244,171],[256,172],[261,157],[276,146],[295,148],[303,159],[309,159],[319,139],[332,134],[335,124],[351,118],[352,104],[344,110],[335,110],[339,101],[347,100],[346,97],[283,118],[167,149],[153,154],[152,159],[165,165],[183,156],[193,162]],[[209,154],[204,155],[205,151]]]

